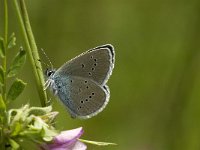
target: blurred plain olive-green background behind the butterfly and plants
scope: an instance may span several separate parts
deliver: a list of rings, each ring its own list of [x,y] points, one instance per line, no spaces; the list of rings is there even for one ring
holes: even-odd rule
[[[53,100],[60,129],[83,126],[82,138],[118,144],[88,145],[95,150],[200,149],[199,0],[27,0],[27,6],[37,45],[56,68],[98,45],[115,47],[106,109],[89,120],[74,120]],[[2,11],[0,16],[2,35]],[[19,47],[11,3],[9,16]],[[29,61],[20,78],[28,85],[13,106],[40,106]]]

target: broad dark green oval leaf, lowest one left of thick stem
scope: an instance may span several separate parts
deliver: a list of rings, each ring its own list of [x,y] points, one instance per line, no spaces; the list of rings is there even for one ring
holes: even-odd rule
[[[26,83],[24,83],[20,79],[16,79],[8,91],[7,98],[9,100],[15,100],[22,93],[25,86],[26,86]]]

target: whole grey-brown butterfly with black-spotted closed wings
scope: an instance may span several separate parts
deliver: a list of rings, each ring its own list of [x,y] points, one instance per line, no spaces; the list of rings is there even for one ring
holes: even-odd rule
[[[59,97],[73,118],[87,119],[101,112],[110,97],[106,85],[114,67],[114,49],[103,45],[49,70],[46,87]]]

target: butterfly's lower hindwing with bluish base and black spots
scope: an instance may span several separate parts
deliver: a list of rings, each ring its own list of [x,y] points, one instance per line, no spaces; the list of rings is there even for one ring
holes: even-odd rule
[[[109,101],[107,86],[76,76],[55,76],[57,95],[73,118],[87,119],[101,112]]]

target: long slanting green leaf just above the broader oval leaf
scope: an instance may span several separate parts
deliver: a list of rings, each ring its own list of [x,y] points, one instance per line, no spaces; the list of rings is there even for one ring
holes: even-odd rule
[[[26,51],[23,49],[20,49],[20,51],[17,53],[15,58],[13,59],[10,68],[8,70],[8,77],[15,76],[20,69],[23,67],[24,63],[26,61]]]

